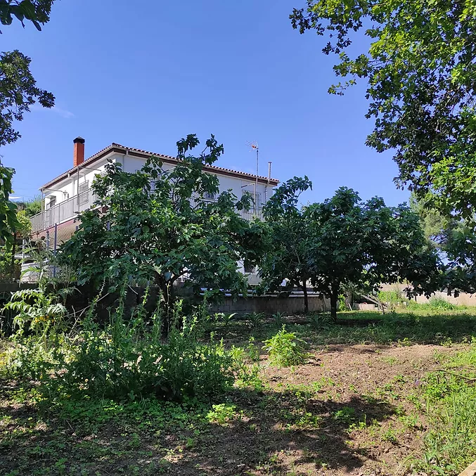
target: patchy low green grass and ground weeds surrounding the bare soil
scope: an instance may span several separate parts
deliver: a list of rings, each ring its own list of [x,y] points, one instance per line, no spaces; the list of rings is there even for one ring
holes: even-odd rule
[[[419,432],[421,448],[409,459],[410,472],[452,476],[476,459],[476,380],[471,380],[476,379],[476,309],[418,308],[385,316],[341,312],[337,324],[280,319],[311,350],[333,344],[423,343],[458,344],[458,352],[437,348],[428,367],[433,370],[416,382],[397,370],[401,359],[376,353],[373,364],[387,366],[393,378],[365,394],[358,392],[358,381],[347,382],[345,401],[338,375],[305,383],[296,382],[293,368],[274,371],[282,382],[268,375],[272,367],[259,360],[259,352],[264,353],[262,342],[276,335],[274,321],[253,328],[236,321],[217,324],[216,335],[250,370],[214,401],[78,401],[41,393],[34,382],[20,384],[4,375],[0,475],[209,475],[227,464],[230,474],[238,465],[246,465],[252,475],[262,474],[259,468],[269,475],[305,474],[298,460],[280,463],[286,449],[294,445],[323,467],[339,468],[332,458],[349,451],[352,432],[394,446],[405,442],[406,434]],[[0,342],[0,349],[8,347]],[[411,402],[409,411],[401,410],[402,401]]]

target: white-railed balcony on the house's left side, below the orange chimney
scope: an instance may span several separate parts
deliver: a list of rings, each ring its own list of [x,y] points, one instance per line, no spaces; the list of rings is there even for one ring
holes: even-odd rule
[[[78,212],[84,212],[84,210],[91,208],[96,200],[96,193],[89,188],[79,193],[79,196],[75,195],[58,203],[58,205],[54,205],[48,210],[34,215],[30,219],[32,222],[32,233],[44,231],[56,224],[75,218]]]

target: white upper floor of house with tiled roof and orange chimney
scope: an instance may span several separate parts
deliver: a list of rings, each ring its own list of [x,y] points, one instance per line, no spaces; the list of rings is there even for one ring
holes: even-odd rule
[[[32,217],[32,233],[37,236],[44,235],[49,229],[60,225],[63,229],[68,227],[74,231],[77,226],[75,225],[77,214],[94,206],[96,202],[91,186],[96,175],[105,173],[105,165],[108,162],[118,162],[125,172],[131,173],[141,169],[146,160],[152,156],[160,158],[164,169],[170,169],[178,163],[176,157],[121,146],[117,143],[110,144],[84,160],[84,144],[84,139],[77,137],[73,141],[73,167],[40,188],[43,198],[42,211]],[[268,176],[238,172],[215,165],[205,165],[203,169],[218,177],[220,193],[230,190],[238,198],[245,191],[252,195],[255,205],[251,210],[240,212],[244,219],[262,217],[262,207],[278,184],[278,180],[270,176],[271,162]],[[210,197],[210,200],[214,200],[214,197]]]

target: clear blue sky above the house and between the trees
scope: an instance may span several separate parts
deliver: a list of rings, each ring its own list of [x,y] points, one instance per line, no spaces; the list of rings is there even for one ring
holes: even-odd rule
[[[364,144],[364,84],[330,96],[335,58],[324,39],[292,30],[288,15],[303,0],[57,0],[42,32],[4,27],[2,51],[32,58],[54,110],[34,108],[16,126],[22,138],[1,148],[15,167],[15,195],[72,167],[72,139],[86,157],[112,142],[175,155],[196,133],[224,143],[222,167],[254,172],[248,141],[258,141],[261,174],[285,181],[307,174],[319,201],[340,186],[389,205],[407,200],[393,178],[391,154]],[[358,46],[358,45],[357,45]]]

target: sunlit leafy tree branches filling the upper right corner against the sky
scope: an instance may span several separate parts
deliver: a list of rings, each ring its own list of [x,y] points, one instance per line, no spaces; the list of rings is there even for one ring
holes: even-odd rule
[[[428,205],[472,218],[476,212],[476,4],[473,0],[307,0],[290,15],[301,33],[328,37],[330,86],[343,94],[367,82],[367,144],[394,150],[397,185]],[[356,47],[352,40],[367,41]]]

